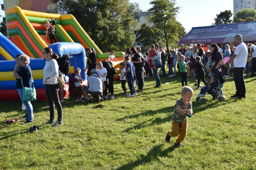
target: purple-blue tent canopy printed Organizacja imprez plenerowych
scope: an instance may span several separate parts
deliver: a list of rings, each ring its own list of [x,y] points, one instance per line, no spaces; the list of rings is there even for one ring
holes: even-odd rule
[[[229,43],[241,34],[243,41],[256,41],[256,21],[193,27],[178,44]]]

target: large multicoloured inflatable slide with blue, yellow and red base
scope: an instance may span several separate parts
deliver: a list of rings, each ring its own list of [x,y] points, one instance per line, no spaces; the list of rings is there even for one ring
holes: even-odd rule
[[[70,54],[71,67],[69,73],[75,68],[84,70],[86,67],[85,51],[87,47],[94,48],[97,53],[97,60],[107,59],[110,53],[103,54],[96,44],[90,39],[76,19],[68,15],[49,14],[22,10],[19,7],[6,9],[7,29],[9,39],[0,35],[0,100],[19,100],[15,91],[15,78],[12,71],[15,66],[15,56],[17,54],[27,54],[31,57],[30,67],[37,89],[37,99],[45,100],[43,82],[42,59],[43,48],[50,46],[54,53],[59,56]],[[49,38],[46,38],[46,28],[43,25],[45,20],[55,18],[57,43],[50,45]],[[118,60],[123,61],[123,52],[116,52]],[[7,61],[11,60],[11,61]],[[114,63],[115,68],[119,68],[119,63]],[[117,74],[119,70],[117,69]],[[85,73],[81,73],[85,79]],[[118,78],[115,76],[115,78]],[[67,95],[67,94],[66,94]]]

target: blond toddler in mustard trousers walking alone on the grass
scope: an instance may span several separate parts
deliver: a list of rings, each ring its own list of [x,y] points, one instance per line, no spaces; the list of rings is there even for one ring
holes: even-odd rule
[[[175,110],[172,116],[172,126],[171,131],[167,132],[165,141],[170,142],[171,137],[177,137],[174,143],[175,147],[183,147],[181,142],[185,139],[187,135],[187,114],[192,116],[192,103],[191,98],[194,95],[194,91],[189,86],[184,86],[181,89],[181,98],[175,103]]]

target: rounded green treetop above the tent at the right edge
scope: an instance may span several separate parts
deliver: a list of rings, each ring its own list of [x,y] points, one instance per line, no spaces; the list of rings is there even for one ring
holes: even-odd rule
[[[234,23],[243,23],[249,21],[256,21],[256,10],[255,9],[242,9],[237,11],[234,16]]]

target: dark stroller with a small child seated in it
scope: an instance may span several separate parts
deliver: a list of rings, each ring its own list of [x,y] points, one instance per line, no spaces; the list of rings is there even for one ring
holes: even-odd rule
[[[207,85],[201,89],[200,94],[197,96],[196,101],[201,101],[201,102],[207,102],[205,97],[205,94],[208,93],[212,96],[213,100],[219,100],[219,101],[225,101],[224,97],[221,97],[221,88],[223,86],[223,83],[225,82],[225,76],[223,74],[223,71],[220,70],[221,66],[218,69],[214,70],[215,74],[215,79],[212,81],[212,78],[207,82]],[[213,77],[214,74],[211,74],[210,77]],[[212,81],[212,82],[211,82]],[[211,82],[211,83],[210,83]]]

